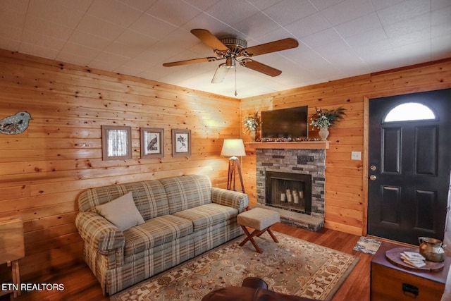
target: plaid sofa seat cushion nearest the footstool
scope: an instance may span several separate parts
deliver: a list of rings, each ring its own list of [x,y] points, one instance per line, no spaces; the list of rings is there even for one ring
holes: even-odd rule
[[[193,230],[199,231],[223,221],[236,219],[237,214],[238,209],[212,203],[175,212],[173,215],[192,221]]]

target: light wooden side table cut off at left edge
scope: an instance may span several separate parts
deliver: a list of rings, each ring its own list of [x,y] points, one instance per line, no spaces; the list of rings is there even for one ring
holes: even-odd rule
[[[25,257],[23,221],[20,218],[0,219],[0,264],[11,266],[13,283],[0,295],[20,295],[19,259]]]

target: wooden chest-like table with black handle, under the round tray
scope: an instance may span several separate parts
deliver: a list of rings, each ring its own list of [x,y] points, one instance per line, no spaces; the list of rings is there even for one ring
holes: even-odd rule
[[[440,301],[450,269],[451,257],[445,257],[443,269],[421,271],[405,269],[388,261],[385,252],[399,245],[382,242],[371,260],[371,301]]]

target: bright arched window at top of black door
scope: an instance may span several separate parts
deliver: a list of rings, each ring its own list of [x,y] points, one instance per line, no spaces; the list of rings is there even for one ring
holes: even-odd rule
[[[398,104],[393,109],[388,111],[384,123],[395,121],[421,121],[421,120],[437,120],[435,113],[418,102],[405,102],[404,104]]]

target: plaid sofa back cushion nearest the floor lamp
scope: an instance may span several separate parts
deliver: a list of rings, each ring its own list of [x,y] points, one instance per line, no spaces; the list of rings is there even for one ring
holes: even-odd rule
[[[211,203],[211,181],[205,175],[160,180],[166,190],[169,214]]]

